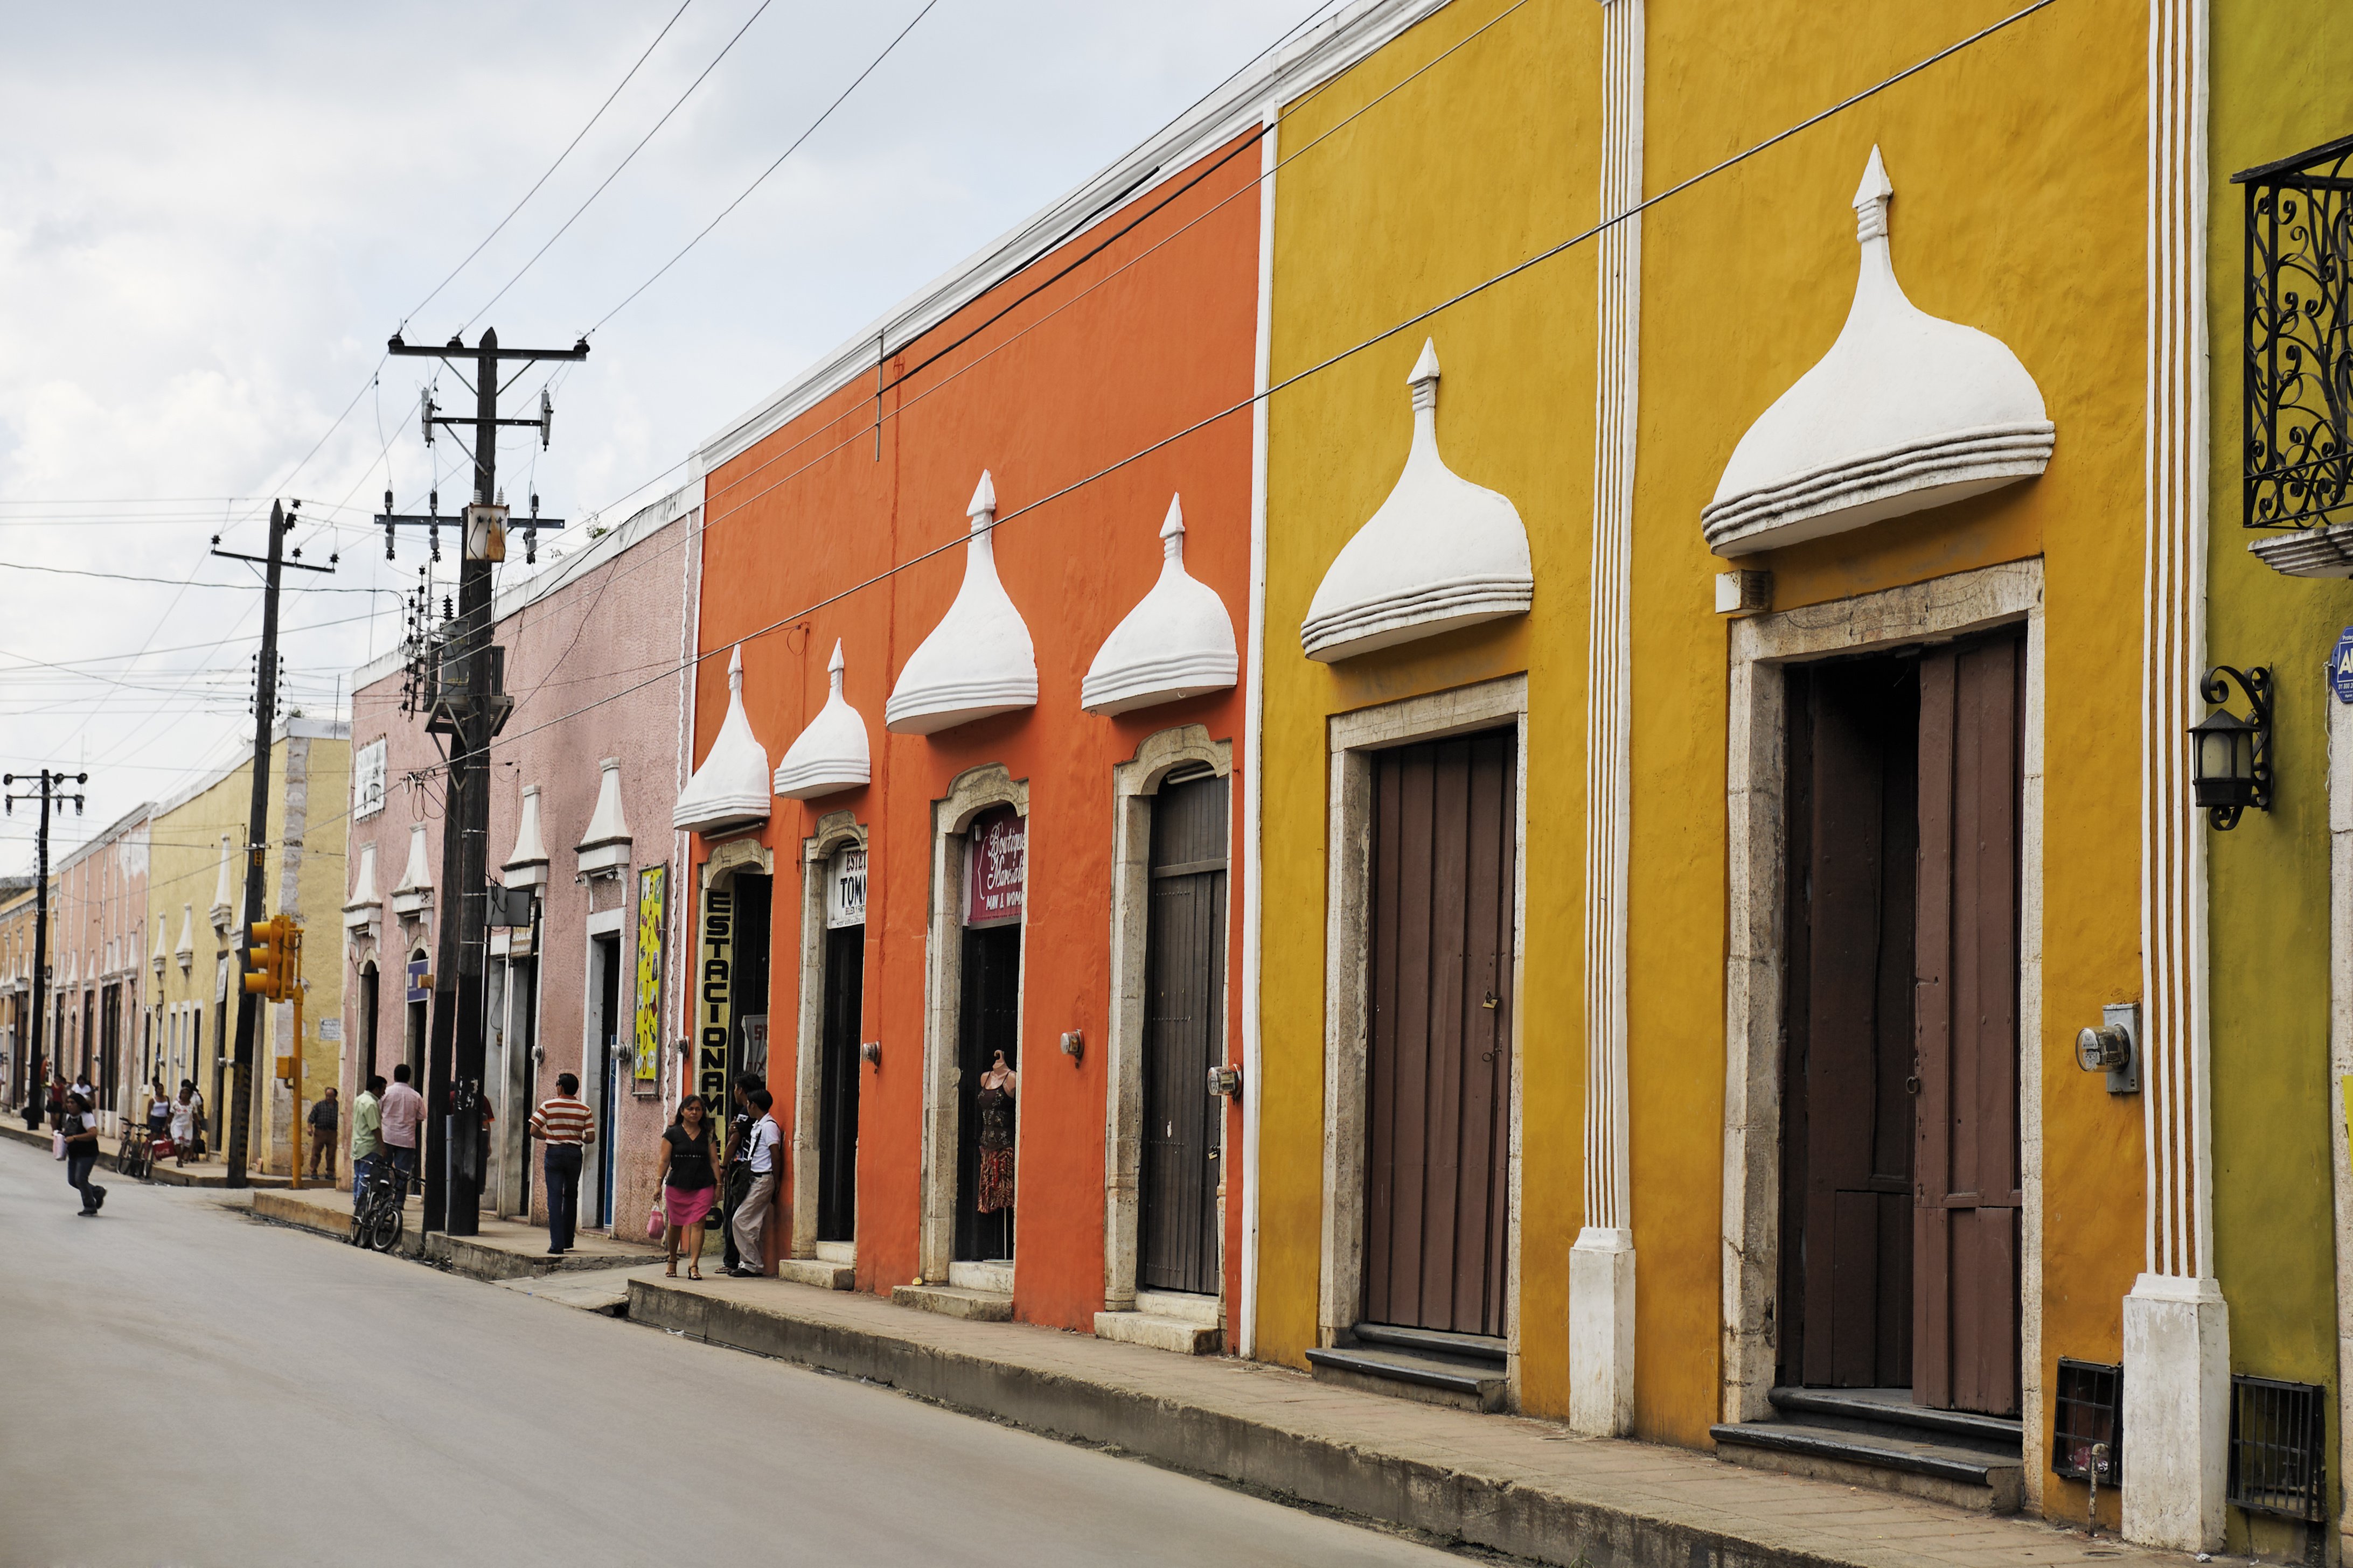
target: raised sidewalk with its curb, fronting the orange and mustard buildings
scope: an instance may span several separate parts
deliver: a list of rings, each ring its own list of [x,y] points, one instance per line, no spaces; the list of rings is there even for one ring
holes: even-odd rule
[[[774,1279],[628,1274],[628,1319],[882,1382],[1061,1439],[1541,1563],[1591,1568],[2167,1566],[2031,1519],[1579,1439],[1304,1373]]]

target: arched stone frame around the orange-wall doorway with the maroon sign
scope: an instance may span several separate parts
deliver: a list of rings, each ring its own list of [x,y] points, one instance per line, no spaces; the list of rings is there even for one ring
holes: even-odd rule
[[[948,792],[932,802],[932,919],[922,999],[922,1220],[915,1237],[918,1269],[932,1284],[948,1279],[948,1260],[955,1255],[955,1046],[965,999],[965,832],[972,827],[972,818],[995,806],[1012,806],[1028,825],[1028,780],[1016,780],[1002,762],[965,769],[948,785]],[[1024,865],[1033,867],[1035,863],[1038,844],[1028,842]],[[1026,879],[1024,870],[1024,884]],[[1024,896],[1024,924],[1026,919]],[[1026,947],[1028,933],[1024,931]],[[1014,997],[1016,1032],[1028,1023],[1026,1004],[1028,952],[1024,952],[1021,987]],[[887,1058],[882,1070],[889,1070]],[[1024,1124],[1026,1117],[1014,1117],[1016,1173]],[[1016,1239],[1014,1251],[1019,1248]]]

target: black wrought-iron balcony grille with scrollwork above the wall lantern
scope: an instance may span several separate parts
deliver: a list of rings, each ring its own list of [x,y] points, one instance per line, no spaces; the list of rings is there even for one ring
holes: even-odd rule
[[[2353,136],[2242,169],[2249,529],[2353,520]]]

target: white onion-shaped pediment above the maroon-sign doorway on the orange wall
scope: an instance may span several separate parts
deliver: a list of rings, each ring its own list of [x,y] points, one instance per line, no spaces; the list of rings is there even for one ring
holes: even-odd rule
[[[901,736],[936,736],[1038,705],[1038,649],[998,581],[998,491],[986,473],[972,491],[967,517],[972,536],[955,602],[899,670],[899,684],[882,705],[885,729]]]

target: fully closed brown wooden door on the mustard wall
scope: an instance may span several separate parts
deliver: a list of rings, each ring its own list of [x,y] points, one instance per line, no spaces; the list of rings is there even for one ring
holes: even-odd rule
[[[1372,757],[1365,1321],[1504,1333],[1515,736]]]

